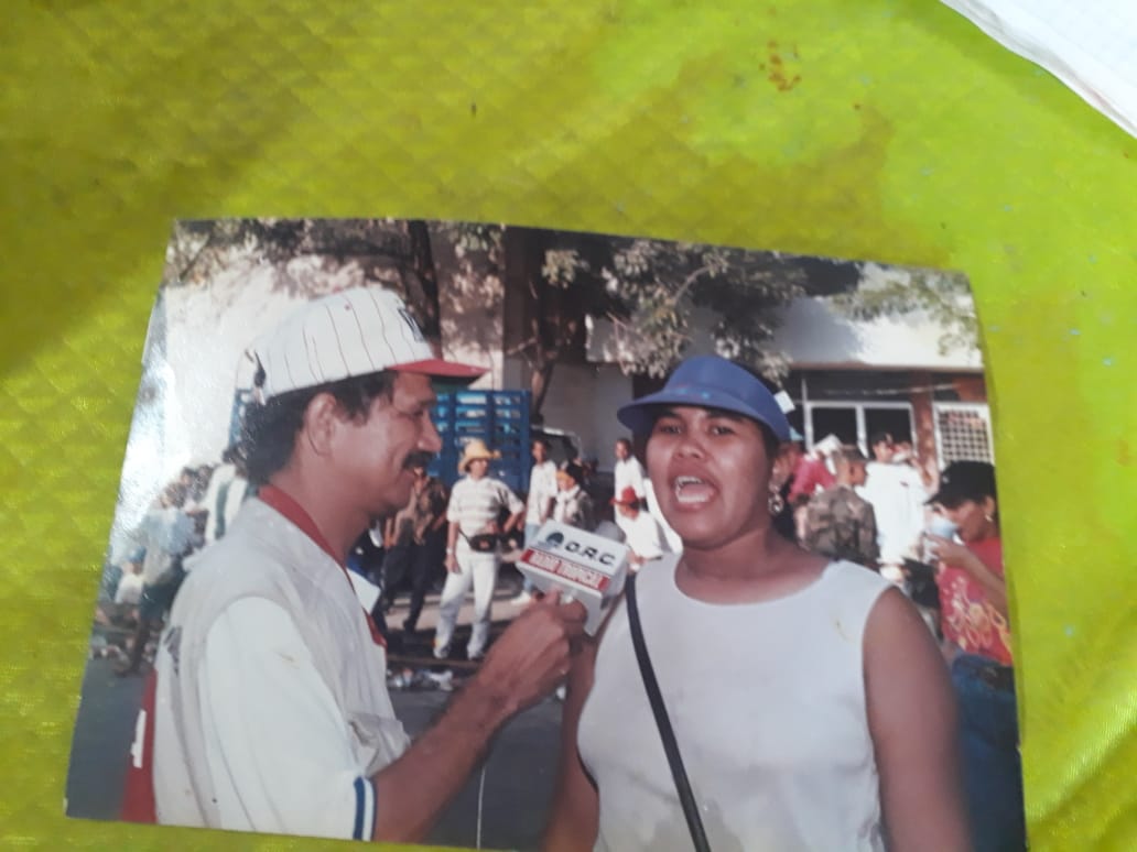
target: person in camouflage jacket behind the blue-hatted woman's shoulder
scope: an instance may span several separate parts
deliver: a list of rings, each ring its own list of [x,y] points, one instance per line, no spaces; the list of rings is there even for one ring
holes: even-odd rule
[[[864,485],[868,461],[856,446],[833,453],[837,483],[810,499],[802,544],[814,553],[875,568],[877,518],[872,504],[854,491]]]

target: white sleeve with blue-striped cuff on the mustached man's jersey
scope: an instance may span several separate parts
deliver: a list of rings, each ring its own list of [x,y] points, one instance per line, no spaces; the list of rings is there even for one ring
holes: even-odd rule
[[[371,840],[374,785],[283,608],[257,598],[230,604],[209,629],[198,677],[222,825]]]

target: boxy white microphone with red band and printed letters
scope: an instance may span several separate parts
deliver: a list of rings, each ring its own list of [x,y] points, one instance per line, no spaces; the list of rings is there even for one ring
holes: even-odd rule
[[[588,610],[584,630],[595,636],[628,576],[629,549],[615,537],[619,535],[614,524],[601,524],[596,533],[589,533],[547,520],[525,545],[516,567],[542,593],[556,588],[564,601],[583,603]]]

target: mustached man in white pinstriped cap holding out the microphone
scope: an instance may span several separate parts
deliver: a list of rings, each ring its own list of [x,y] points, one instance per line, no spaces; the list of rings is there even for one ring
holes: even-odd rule
[[[376,287],[309,302],[252,354],[259,402],[242,443],[260,490],[174,602],[123,816],[416,841],[505,720],[556,686],[583,608],[554,598],[526,610],[412,744],[345,562],[441,448],[431,378],[480,370],[435,359],[402,302]]]

